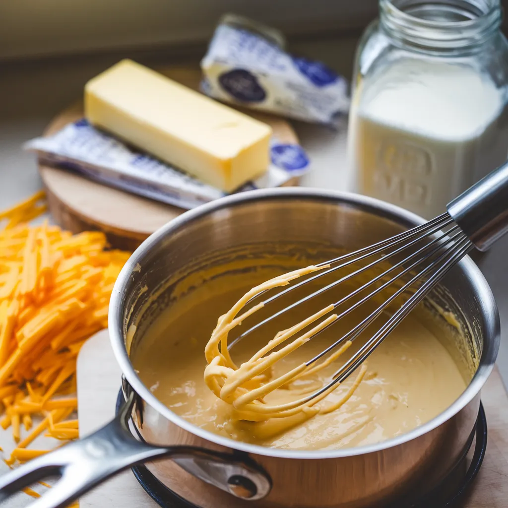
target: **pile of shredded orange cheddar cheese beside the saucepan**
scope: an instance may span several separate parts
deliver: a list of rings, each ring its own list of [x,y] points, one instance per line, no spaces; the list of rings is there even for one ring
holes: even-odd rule
[[[9,466],[49,451],[28,449],[41,434],[78,437],[76,358],[108,326],[113,284],[130,256],[107,250],[100,232],[30,225],[44,199],[40,192],[0,212],[0,425],[17,443]]]

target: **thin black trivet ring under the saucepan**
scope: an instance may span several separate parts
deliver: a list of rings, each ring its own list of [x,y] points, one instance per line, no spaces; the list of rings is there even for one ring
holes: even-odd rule
[[[116,412],[118,413],[124,398],[120,391],[116,400]],[[471,446],[472,440],[469,446]],[[478,418],[476,422],[476,443],[474,446],[474,454],[464,475],[463,480],[457,486],[457,489],[444,500],[437,500],[440,488],[437,486],[429,494],[425,495],[417,502],[412,502],[407,508],[447,508],[455,506],[456,503],[462,499],[464,494],[469,490],[474,479],[477,477],[478,471],[482,465],[487,449],[487,419],[485,417],[485,410],[483,404],[480,402],[480,410],[478,411]],[[460,467],[461,463],[456,467]],[[179,496],[176,492],[166,487],[162,482],[157,480],[154,475],[143,465],[132,467],[132,472],[145,492],[162,508],[199,508],[194,503],[191,503]],[[443,480],[443,484],[454,474],[455,469]],[[442,484],[441,484],[442,485]],[[392,508],[403,508],[399,503],[392,505]]]

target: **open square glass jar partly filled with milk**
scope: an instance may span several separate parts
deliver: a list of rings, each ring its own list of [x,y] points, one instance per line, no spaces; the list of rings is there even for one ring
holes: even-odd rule
[[[356,56],[357,192],[427,219],[508,156],[499,0],[380,0]]]

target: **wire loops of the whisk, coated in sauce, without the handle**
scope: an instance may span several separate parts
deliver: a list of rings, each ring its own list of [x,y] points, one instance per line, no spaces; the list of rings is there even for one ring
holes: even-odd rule
[[[219,398],[231,403],[235,410],[239,411],[239,414],[244,415],[247,419],[254,418],[255,421],[260,421],[260,418],[289,417],[296,415],[300,411],[303,411],[303,417],[306,418],[309,415],[315,414],[315,411],[326,412],[327,410],[334,410],[337,404],[340,406],[342,399],[327,408],[316,408],[315,405],[327,397],[328,394],[335,390],[339,383],[342,383],[346,377],[361,366],[352,387],[348,390],[343,400],[347,400],[352,395],[365,375],[367,367],[364,362],[367,357],[472,246],[472,242],[462,229],[457,224],[454,224],[453,219],[449,215],[443,214],[423,226],[401,233],[389,240],[378,242],[373,246],[365,247],[321,265],[302,268],[265,281],[247,292],[227,314],[219,319],[217,327],[207,344],[211,358],[213,357],[212,360],[207,357],[209,362],[205,369],[205,381],[207,385]],[[411,249],[411,247],[413,248]],[[373,256],[375,258],[370,260]],[[397,258],[395,258],[393,264],[390,263],[388,267],[385,267],[384,263],[395,256]],[[239,326],[247,317],[263,308],[265,304],[280,298],[283,294],[287,294],[289,291],[293,291],[311,280],[316,280],[326,274],[364,260],[367,260],[364,266],[360,266],[357,269],[353,267],[353,271],[346,273],[337,280],[328,284],[325,282],[326,285],[323,288],[274,312],[229,342],[229,332]],[[326,271],[320,270],[336,262],[338,262],[337,266],[333,266]],[[354,291],[342,296],[335,303],[330,303],[298,324],[286,330],[281,330],[260,351],[239,367],[232,362],[229,351],[249,333],[276,319],[283,313],[294,309],[298,305],[368,270],[373,271],[373,276],[367,281],[364,278],[360,278],[359,287]],[[250,306],[241,315],[237,315],[242,307],[267,290],[275,287],[280,288],[299,276],[306,276],[315,271],[319,271],[319,273],[311,275],[302,282],[292,284],[290,288],[256,305]],[[388,291],[389,293],[383,295],[381,303],[376,303],[374,297],[382,294],[383,291]],[[332,311],[352,298],[355,298],[355,300],[347,308],[344,308],[341,312],[332,313]],[[397,299],[400,299],[400,304]],[[369,301],[374,302],[375,308],[368,310],[368,315],[363,317],[356,326],[348,330],[347,333],[328,345],[312,359],[304,361],[297,367],[291,368],[288,372],[277,374],[276,377],[272,378],[272,366],[274,363],[282,361],[286,356],[296,351],[297,348],[304,345],[307,341],[314,339],[347,314],[359,309],[362,305],[368,305]],[[396,301],[396,308],[391,310],[390,307]],[[364,308],[372,309],[370,306]],[[377,323],[377,319],[382,313],[387,311],[390,311],[388,319],[380,322],[379,327],[376,326],[373,334],[370,337],[367,336],[366,341],[360,345],[358,350],[331,377],[328,377],[327,380],[323,379],[323,383],[320,385],[321,388],[291,402],[276,405],[270,405],[265,402],[265,396],[274,390],[280,389],[282,386],[292,389],[292,383],[300,377],[310,373],[314,375],[315,372],[328,367],[352,345],[353,341],[365,333],[373,323]],[[251,318],[249,317],[249,319]],[[301,335],[297,335],[300,333]],[[294,338],[295,335],[297,335],[296,338]],[[324,361],[316,363],[325,356],[327,358]],[[311,365],[312,367],[310,368]]]

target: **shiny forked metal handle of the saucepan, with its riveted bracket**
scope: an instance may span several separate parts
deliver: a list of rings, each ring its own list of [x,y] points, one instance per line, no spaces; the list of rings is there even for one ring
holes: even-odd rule
[[[196,447],[159,447],[135,439],[128,425],[135,397],[131,391],[117,417],[97,432],[0,477],[0,502],[30,484],[57,475],[60,480],[29,508],[64,508],[114,474],[162,457],[175,459],[196,477],[236,497],[256,500],[268,494],[269,475],[248,456]]]

